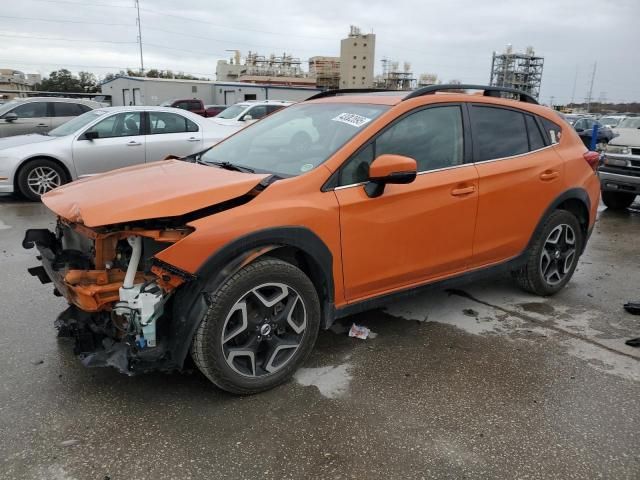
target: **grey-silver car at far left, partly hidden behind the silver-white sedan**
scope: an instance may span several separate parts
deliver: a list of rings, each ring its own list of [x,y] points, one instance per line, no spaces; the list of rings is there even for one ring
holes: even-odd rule
[[[98,102],[73,98],[16,98],[0,105],[0,137],[47,133],[101,106]]]

